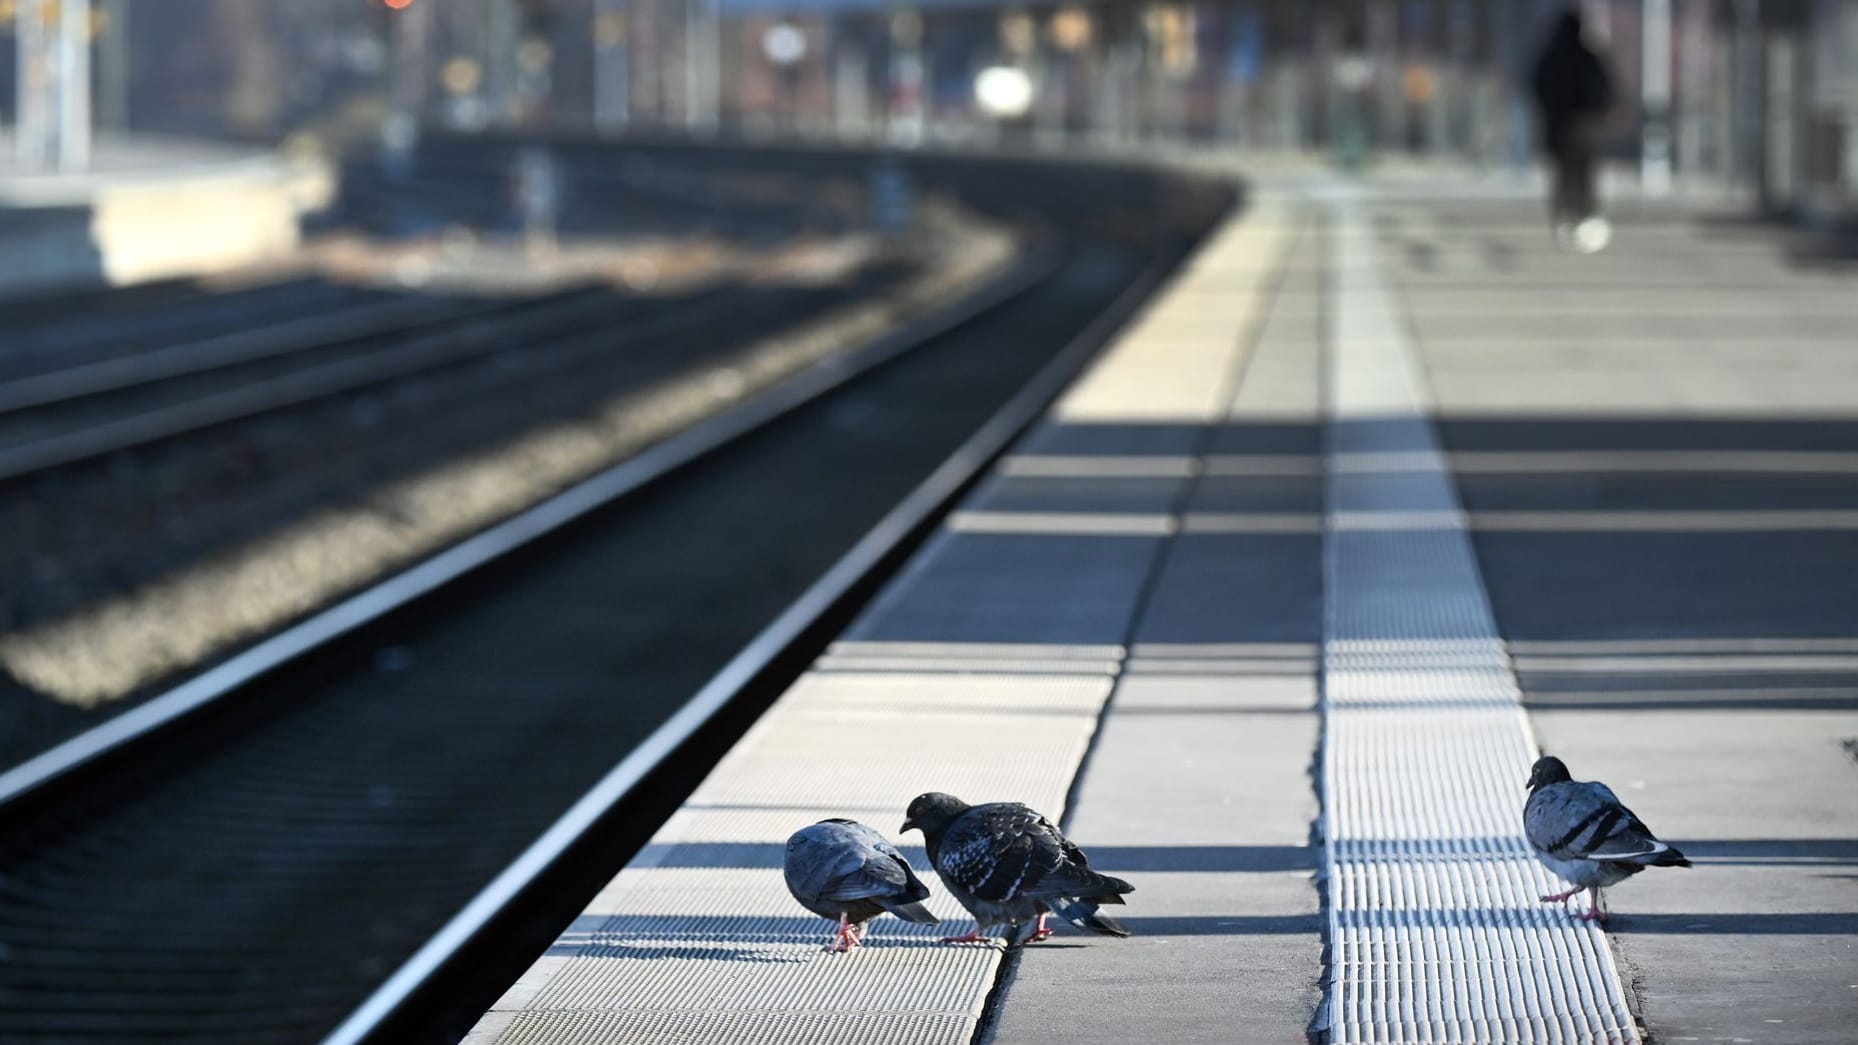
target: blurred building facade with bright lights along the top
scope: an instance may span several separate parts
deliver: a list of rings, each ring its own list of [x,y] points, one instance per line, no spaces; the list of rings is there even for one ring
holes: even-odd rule
[[[0,0],[0,119],[24,78]],[[39,0],[41,4],[45,0]],[[54,4],[56,6],[56,4]],[[1583,0],[1613,152],[1858,206],[1858,2]],[[379,119],[899,143],[1180,141],[1524,165],[1563,0],[97,0],[98,121],[281,138]],[[158,13],[156,13],[158,11]],[[985,69],[1031,86],[975,95]]]

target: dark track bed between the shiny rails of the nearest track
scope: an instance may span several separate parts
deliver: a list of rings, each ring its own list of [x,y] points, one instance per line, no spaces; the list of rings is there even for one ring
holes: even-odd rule
[[[1219,208],[1132,234],[1178,184],[942,177],[1076,232],[907,353],[751,402],[752,439],[9,787],[0,1039],[318,1039]]]

